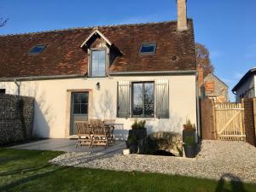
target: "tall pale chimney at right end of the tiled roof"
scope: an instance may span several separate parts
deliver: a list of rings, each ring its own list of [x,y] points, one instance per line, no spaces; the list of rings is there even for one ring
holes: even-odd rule
[[[177,2],[177,31],[188,29],[187,22],[187,0],[176,0]]]

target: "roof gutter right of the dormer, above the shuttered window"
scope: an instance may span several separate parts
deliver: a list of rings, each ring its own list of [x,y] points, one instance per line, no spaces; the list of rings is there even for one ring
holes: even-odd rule
[[[139,74],[195,74],[196,70],[187,71],[153,71],[153,72],[108,72],[109,75],[139,75]]]

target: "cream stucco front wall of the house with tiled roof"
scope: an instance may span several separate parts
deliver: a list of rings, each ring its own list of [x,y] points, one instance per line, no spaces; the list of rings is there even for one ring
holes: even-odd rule
[[[182,132],[186,119],[196,125],[196,89],[195,75],[172,76],[120,76],[107,79],[51,79],[23,81],[20,85],[21,96],[35,97],[35,115],[33,133],[38,137],[65,137],[67,121],[70,114],[67,106],[67,90],[92,89],[93,104],[90,104],[89,119],[116,119],[120,124],[116,134],[125,133],[131,128],[134,119],[116,118],[117,82],[154,81],[168,79],[169,81],[169,119],[146,119],[148,132],[176,131]],[[101,89],[96,90],[100,82]],[[6,89],[7,94],[17,94],[14,82],[0,82],[0,89]],[[66,134],[67,135],[67,134]]]

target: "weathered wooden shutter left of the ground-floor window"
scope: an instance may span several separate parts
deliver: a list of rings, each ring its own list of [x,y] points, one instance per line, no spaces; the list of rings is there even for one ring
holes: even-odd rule
[[[130,116],[130,82],[120,81],[118,83],[118,108],[119,118],[128,118]]]

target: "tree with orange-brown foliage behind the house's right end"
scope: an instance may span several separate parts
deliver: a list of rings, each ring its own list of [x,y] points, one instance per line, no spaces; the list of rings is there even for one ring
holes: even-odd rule
[[[209,50],[203,44],[195,44],[195,54],[196,54],[196,65],[197,67],[202,67],[204,75],[214,72],[214,67],[210,60]]]

